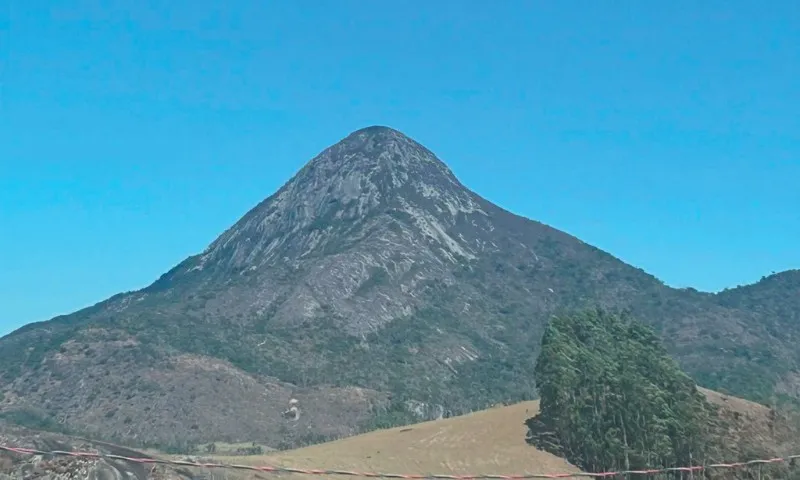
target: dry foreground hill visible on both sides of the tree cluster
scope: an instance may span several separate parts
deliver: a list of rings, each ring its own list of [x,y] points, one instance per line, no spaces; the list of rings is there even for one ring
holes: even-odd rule
[[[730,423],[724,460],[795,453],[797,427],[773,410],[701,389]],[[389,473],[489,474],[579,471],[565,460],[527,445],[525,420],[538,400],[473,414],[358,435],[288,452],[249,457],[215,456],[228,463]]]

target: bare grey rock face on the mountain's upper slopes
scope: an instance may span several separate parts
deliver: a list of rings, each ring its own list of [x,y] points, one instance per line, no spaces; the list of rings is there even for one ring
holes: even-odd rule
[[[423,146],[367,128],[322,152],[154,287],[257,277],[249,305],[236,296],[219,308],[263,315],[279,303],[273,322],[288,324],[329,308],[346,318],[348,333],[367,334],[413,312],[425,280],[498,248],[486,241],[494,227],[483,203]],[[465,226],[477,232],[465,237]],[[276,270],[293,277],[288,288]],[[365,291],[374,277],[382,294]]]

